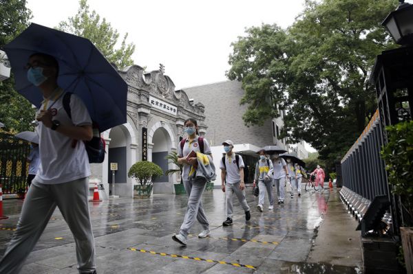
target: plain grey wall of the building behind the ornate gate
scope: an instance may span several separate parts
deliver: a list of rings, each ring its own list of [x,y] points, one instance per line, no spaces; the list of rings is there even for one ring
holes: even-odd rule
[[[204,123],[208,125],[205,137],[212,146],[220,146],[226,139],[231,139],[234,144],[273,144],[271,120],[266,121],[264,126],[244,125],[242,115],[246,106],[240,105],[244,95],[240,82],[218,82],[183,90],[189,99],[204,104]]]

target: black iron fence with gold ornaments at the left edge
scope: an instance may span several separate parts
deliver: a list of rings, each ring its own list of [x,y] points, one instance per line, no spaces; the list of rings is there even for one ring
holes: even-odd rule
[[[3,194],[25,192],[30,143],[9,133],[0,133],[0,183]]]

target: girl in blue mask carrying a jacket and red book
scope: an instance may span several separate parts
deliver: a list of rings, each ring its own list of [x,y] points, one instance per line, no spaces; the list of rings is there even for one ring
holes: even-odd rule
[[[209,236],[209,221],[202,206],[202,193],[204,193],[207,185],[207,178],[204,176],[191,176],[191,167],[198,165],[197,157],[187,157],[191,151],[201,152],[204,155],[211,157],[211,148],[209,143],[203,137],[198,135],[198,123],[195,119],[187,119],[184,122],[184,130],[188,137],[182,139],[178,144],[178,163],[184,165],[182,170],[182,181],[184,182],[185,191],[187,192],[188,208],[184,217],[184,222],[180,227],[180,232],[172,236],[172,239],[182,245],[187,245],[189,230],[195,222],[195,218],[200,222],[204,229],[198,234],[199,238]],[[212,162],[212,161],[211,161]],[[213,171],[215,174],[215,170]]]

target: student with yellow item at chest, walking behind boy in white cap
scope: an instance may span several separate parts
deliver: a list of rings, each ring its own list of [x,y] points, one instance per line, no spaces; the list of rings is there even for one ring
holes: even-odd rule
[[[265,192],[268,192],[268,202],[270,203],[268,209],[271,210],[274,208],[273,179],[271,179],[273,163],[266,157],[265,150],[260,150],[259,153],[260,160],[257,162],[257,165],[255,165],[254,186],[257,183],[258,189],[260,190],[257,209],[263,212]]]

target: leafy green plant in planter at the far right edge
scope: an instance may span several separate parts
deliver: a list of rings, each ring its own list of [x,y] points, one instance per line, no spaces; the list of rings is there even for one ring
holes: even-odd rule
[[[407,273],[413,273],[413,121],[400,122],[386,130],[388,144],[383,146],[381,157],[392,194],[400,199],[404,226],[400,228],[401,244]]]

